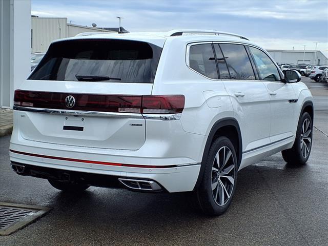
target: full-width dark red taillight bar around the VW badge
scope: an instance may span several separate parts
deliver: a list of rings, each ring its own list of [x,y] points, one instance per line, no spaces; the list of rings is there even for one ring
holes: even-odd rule
[[[74,97],[74,103],[67,104],[68,96]],[[185,96],[98,95],[16,90],[14,105],[44,109],[174,114],[182,112],[185,107]]]

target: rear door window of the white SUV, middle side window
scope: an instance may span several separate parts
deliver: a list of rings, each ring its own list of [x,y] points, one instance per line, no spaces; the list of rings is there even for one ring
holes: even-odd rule
[[[250,58],[243,45],[220,44],[231,79],[255,79]]]

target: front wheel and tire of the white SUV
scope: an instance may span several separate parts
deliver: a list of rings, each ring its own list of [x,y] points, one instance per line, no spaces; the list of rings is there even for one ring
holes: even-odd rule
[[[302,114],[291,149],[281,152],[283,159],[292,166],[302,166],[309,159],[312,147],[313,123],[309,113]]]

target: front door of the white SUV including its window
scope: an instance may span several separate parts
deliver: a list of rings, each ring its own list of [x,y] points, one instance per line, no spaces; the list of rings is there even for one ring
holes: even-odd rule
[[[277,142],[292,137],[296,130],[293,122],[296,117],[295,102],[297,101],[292,85],[280,81],[278,68],[267,54],[251,46],[249,50],[254,58],[259,79],[270,96],[271,141]]]

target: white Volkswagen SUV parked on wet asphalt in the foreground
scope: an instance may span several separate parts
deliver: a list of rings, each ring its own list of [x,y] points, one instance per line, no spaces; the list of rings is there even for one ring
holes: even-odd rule
[[[279,151],[291,165],[309,158],[313,98],[284,73],[237,34],[57,40],[15,91],[12,168],[63,191],[192,192],[222,214],[238,170]]]

